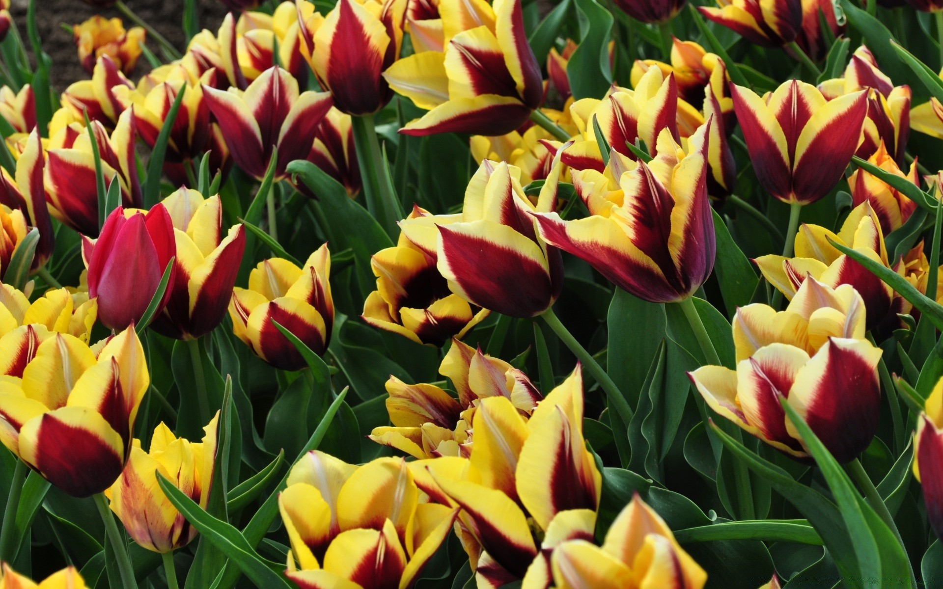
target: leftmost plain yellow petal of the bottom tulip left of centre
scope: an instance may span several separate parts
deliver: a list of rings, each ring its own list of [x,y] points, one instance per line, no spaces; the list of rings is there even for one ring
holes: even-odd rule
[[[332,537],[327,501],[308,483],[290,484],[278,495],[278,511],[295,560],[302,569],[320,568],[314,550],[323,552]]]

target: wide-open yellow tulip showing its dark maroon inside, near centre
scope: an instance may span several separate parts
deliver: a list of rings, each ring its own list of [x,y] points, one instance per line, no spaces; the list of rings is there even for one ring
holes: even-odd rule
[[[406,219],[430,216],[416,206]],[[372,255],[371,268],[376,290],[367,297],[361,318],[374,327],[441,348],[488,317],[487,310],[472,309],[450,292],[436,258],[402,233],[396,246]]]

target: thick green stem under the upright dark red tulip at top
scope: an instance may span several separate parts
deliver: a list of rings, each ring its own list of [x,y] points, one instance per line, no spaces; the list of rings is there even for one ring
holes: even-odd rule
[[[356,159],[363,178],[363,192],[367,199],[367,210],[389,237],[396,239],[400,229],[397,222],[404,214],[399,200],[392,190],[389,179],[389,167],[380,150],[380,141],[376,137],[376,127],[372,115],[352,117]]]

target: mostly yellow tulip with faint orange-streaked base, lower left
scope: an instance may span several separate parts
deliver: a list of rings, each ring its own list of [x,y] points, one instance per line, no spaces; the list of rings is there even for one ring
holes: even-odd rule
[[[105,495],[110,499],[111,511],[141,547],[171,552],[187,546],[196,537],[196,529],[160,490],[157,472],[206,509],[213,482],[219,418],[217,411],[203,428],[202,442],[177,438],[163,422],[154,429],[150,450],[141,450],[141,440],[134,440],[127,465]]]

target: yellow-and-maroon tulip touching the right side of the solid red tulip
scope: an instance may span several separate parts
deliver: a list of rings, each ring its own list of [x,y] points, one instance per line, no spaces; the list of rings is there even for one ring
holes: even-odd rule
[[[225,317],[245,250],[245,232],[235,225],[223,234],[219,196],[204,200],[180,188],[163,200],[174,223],[176,258],[170,298],[156,316],[154,331],[175,339],[207,335]]]

